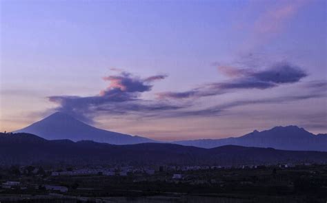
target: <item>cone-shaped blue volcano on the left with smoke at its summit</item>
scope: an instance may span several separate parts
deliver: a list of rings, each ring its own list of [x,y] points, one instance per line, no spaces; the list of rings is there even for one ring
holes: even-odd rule
[[[14,133],[32,133],[48,140],[68,139],[73,141],[92,140],[115,145],[129,145],[142,142],[157,142],[139,136],[98,129],[61,112],[54,113]]]

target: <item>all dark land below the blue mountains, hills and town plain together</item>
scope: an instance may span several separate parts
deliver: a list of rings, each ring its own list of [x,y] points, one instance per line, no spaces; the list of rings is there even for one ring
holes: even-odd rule
[[[0,134],[0,202],[326,202],[327,152]]]

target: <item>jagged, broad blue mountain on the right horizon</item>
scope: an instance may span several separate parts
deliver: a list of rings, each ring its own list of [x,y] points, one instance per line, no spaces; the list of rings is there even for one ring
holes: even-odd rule
[[[244,147],[273,147],[299,151],[327,151],[327,135],[315,135],[297,126],[273,127],[265,131],[253,131],[239,138],[181,140],[172,142],[195,147],[220,147],[239,145]]]

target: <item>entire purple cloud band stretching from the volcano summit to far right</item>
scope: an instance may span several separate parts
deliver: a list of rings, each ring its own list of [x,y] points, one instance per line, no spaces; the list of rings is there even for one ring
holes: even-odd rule
[[[239,89],[267,89],[277,87],[284,83],[297,83],[306,73],[299,67],[288,63],[278,63],[272,67],[246,73],[232,78],[223,83],[210,83],[201,85],[186,92],[162,92],[155,100],[145,100],[141,98],[143,92],[149,92],[152,82],[166,78],[166,75],[156,75],[147,78],[133,76],[126,72],[118,75],[107,76],[105,81],[109,82],[106,89],[95,96],[49,96],[52,103],[59,106],[56,111],[63,111],[84,122],[92,123],[97,116],[139,116],[141,118],[156,117],[184,117],[184,116],[221,116],[226,114],[226,110],[244,105],[284,103],[308,98],[319,98],[326,96],[326,81],[313,81],[301,83],[303,89],[309,94],[295,96],[281,96],[276,98],[264,98],[254,100],[236,100],[222,105],[208,107],[206,109],[195,110],[195,99],[204,96],[217,96],[226,94],[230,90]],[[181,99],[193,98],[190,100],[175,100],[167,98]]]

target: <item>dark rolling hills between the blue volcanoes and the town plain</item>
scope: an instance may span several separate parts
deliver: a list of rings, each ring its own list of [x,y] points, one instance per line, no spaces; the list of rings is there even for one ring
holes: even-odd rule
[[[224,146],[212,149],[167,143],[109,145],[92,141],[46,140],[28,133],[0,133],[0,165],[128,164],[238,165],[326,163],[327,152],[282,151],[272,148]]]

